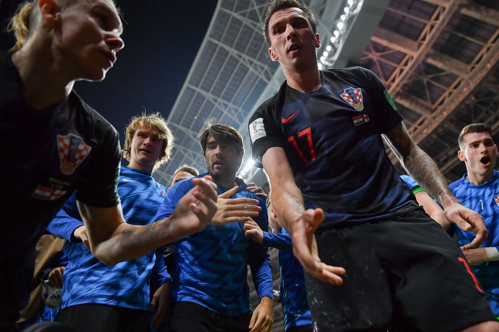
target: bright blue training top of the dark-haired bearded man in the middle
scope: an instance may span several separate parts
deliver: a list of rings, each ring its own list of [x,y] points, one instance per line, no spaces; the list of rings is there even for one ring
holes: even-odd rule
[[[198,175],[203,177],[205,174]],[[239,190],[230,198],[252,198],[260,202],[260,215],[253,218],[268,230],[267,212],[263,199],[246,190],[247,185],[236,179]],[[190,179],[176,183],[159,208],[155,220],[165,219],[173,213],[179,200],[194,187]],[[218,188],[218,193],[226,188]],[[247,313],[249,287],[247,265],[258,292],[273,298],[272,272],[266,248],[244,235],[241,223],[223,226],[206,226],[194,235],[175,244],[175,267],[172,279],[172,301],[189,301],[202,305],[219,314],[235,316]]]

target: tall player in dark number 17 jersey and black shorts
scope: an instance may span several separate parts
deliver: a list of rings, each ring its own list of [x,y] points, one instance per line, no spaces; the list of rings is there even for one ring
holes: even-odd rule
[[[466,249],[486,239],[483,219],[452,196],[380,79],[361,67],[319,71],[315,19],[296,0],[272,2],[263,31],[287,81],[249,120],[252,154],[307,272],[314,325],[497,330],[464,255],[414,203],[382,135],[447,219],[476,233]]]

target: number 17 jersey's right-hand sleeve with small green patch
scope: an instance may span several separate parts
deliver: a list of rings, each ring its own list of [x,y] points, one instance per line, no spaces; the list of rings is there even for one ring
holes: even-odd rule
[[[372,96],[375,102],[372,116],[377,120],[376,123],[379,132],[385,134],[399,124],[403,120],[403,117],[400,115],[395,102],[391,99],[388,90],[379,77],[369,69],[362,67],[355,68],[360,70],[361,74],[359,78],[362,81],[364,81],[365,77],[365,82],[361,82],[362,88]]]

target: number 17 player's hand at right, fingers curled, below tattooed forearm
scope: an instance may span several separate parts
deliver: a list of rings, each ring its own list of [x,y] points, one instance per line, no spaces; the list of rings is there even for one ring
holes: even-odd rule
[[[462,246],[462,250],[478,248],[480,244],[487,240],[487,228],[484,224],[484,218],[480,214],[457,202],[446,207],[443,212],[445,218],[456,224],[460,229],[472,230],[475,233],[476,236],[473,241]]]

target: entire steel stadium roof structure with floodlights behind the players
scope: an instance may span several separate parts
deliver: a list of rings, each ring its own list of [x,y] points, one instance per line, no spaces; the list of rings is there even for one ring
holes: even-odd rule
[[[499,2],[496,0],[309,0],[317,16],[320,68],[360,65],[384,82],[413,139],[449,181],[466,171],[457,159],[462,127],[485,122],[499,131]],[[203,119],[237,128],[246,141],[240,176],[263,184],[251,166],[247,121],[284,77],[261,34],[266,0],[219,0],[203,43],[168,117],[178,140],[173,159],[158,170],[205,169],[195,139]],[[396,164],[398,161],[389,153]],[[400,169],[402,171],[402,169]],[[276,251],[271,250],[275,263]],[[273,267],[275,287],[278,269]],[[253,291],[253,299],[256,294]],[[256,303],[253,305],[255,306]],[[254,307],[253,306],[253,307]],[[274,331],[283,330],[276,306]]]

